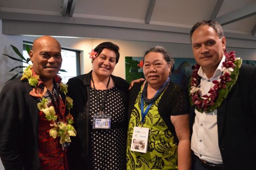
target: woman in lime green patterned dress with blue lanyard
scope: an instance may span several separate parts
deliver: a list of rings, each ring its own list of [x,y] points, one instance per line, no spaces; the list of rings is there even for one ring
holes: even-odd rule
[[[155,46],[145,52],[146,81],[135,83],[129,94],[128,170],[190,169],[188,101],[170,81],[171,68],[173,59],[165,48]],[[146,153],[131,150],[132,142],[137,142],[133,150],[144,148],[143,142],[132,140],[135,127],[149,130]]]

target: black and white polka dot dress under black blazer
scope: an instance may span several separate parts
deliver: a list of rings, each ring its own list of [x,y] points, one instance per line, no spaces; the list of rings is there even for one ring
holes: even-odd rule
[[[107,90],[96,90],[100,103]],[[111,129],[93,129],[93,114],[99,113],[98,102],[93,88],[90,88],[90,142],[89,158],[93,170],[126,170],[126,113],[116,86],[108,89],[104,113],[111,114]],[[122,127],[112,129],[115,124]]]

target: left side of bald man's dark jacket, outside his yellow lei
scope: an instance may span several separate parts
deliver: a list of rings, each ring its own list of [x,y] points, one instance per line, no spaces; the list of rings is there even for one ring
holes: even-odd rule
[[[0,93],[0,157],[6,170],[37,170],[37,100],[32,87],[20,78],[7,83]]]

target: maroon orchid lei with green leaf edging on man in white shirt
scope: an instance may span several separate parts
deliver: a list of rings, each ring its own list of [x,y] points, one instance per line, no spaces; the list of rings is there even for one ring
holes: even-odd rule
[[[239,68],[242,64],[242,59],[236,58],[234,51],[224,52],[225,61],[223,64],[222,74],[219,77],[220,81],[212,81],[214,86],[210,88],[208,93],[210,95],[199,95],[200,76],[197,74],[200,68],[199,65],[192,67],[193,73],[191,75],[189,83],[189,100],[191,105],[195,105],[195,108],[199,112],[209,113],[221,105],[223,100],[231,91],[232,86],[235,85],[238,75]]]

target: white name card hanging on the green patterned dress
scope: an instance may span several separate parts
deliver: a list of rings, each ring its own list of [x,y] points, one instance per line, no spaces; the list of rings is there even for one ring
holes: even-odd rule
[[[130,150],[147,153],[148,149],[148,127],[134,126],[132,134],[132,144]]]

